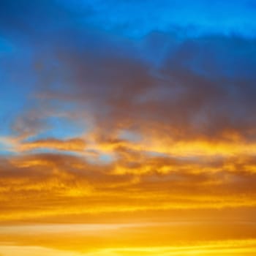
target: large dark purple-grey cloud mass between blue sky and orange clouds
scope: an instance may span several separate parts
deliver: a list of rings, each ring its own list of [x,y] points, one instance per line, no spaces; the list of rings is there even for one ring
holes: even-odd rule
[[[65,102],[69,95],[78,112],[93,116],[96,129],[131,129],[148,136],[155,129],[174,140],[255,140],[254,40],[164,38],[169,50],[156,67],[126,40],[118,48],[108,37],[90,34],[91,43],[102,43],[87,50],[81,48],[86,36],[80,31],[76,36],[49,49],[59,61],[55,75],[65,80],[66,91],[53,89],[48,95]]]

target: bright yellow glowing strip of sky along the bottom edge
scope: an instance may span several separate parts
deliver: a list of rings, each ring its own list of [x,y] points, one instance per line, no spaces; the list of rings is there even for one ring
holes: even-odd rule
[[[165,225],[169,228],[165,227]],[[198,233],[202,232],[200,230],[200,223],[196,222],[194,224],[176,222],[162,225],[157,223],[140,223],[129,225],[2,227],[0,238],[2,238],[3,242],[0,244],[0,254],[3,256],[255,255],[256,239],[252,238],[239,240],[217,239],[215,241],[204,239],[203,241],[197,240],[195,236],[193,238],[192,234],[187,233],[187,235],[181,236],[179,241],[170,240],[170,238],[177,237],[173,236],[173,233],[180,236],[184,233],[184,230],[189,231],[187,229],[189,225],[197,228],[197,236]],[[207,226],[206,223],[205,225]],[[210,227],[210,231],[213,231],[211,230],[214,228],[213,225],[208,227]],[[171,229],[174,229],[174,231]],[[231,233],[232,230],[230,231]],[[163,236],[164,234],[165,236]],[[155,239],[157,236],[161,239],[160,241]],[[215,236],[218,236],[218,234]],[[236,235],[233,235],[233,237],[236,237]]]

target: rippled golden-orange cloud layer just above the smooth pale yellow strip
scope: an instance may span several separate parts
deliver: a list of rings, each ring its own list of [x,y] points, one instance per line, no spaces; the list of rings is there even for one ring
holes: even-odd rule
[[[67,154],[1,157],[1,219],[255,208],[254,157],[180,159],[124,152],[108,164]]]

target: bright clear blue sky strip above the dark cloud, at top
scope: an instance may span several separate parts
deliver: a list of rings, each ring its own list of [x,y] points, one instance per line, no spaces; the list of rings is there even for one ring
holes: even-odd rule
[[[127,37],[152,31],[194,29],[189,34],[255,35],[254,1],[59,1],[85,23]]]

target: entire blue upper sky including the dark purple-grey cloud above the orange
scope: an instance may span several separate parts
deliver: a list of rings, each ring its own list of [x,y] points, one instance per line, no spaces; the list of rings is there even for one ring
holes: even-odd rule
[[[227,129],[252,138],[252,4],[1,1],[1,109],[12,99],[15,113],[40,108],[28,97],[40,93],[54,108],[73,102],[111,129],[158,123],[181,136]]]

